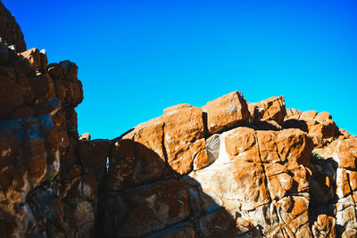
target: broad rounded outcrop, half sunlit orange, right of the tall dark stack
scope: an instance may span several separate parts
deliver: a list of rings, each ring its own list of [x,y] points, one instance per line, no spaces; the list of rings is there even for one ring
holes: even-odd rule
[[[112,140],[107,237],[354,237],[357,138],[328,112],[239,92],[163,112]]]

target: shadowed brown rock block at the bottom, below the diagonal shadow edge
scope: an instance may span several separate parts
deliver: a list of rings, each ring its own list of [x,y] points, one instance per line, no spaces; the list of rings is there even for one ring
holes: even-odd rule
[[[167,180],[120,193],[126,211],[115,224],[116,237],[142,236],[185,220],[190,213],[184,183]]]

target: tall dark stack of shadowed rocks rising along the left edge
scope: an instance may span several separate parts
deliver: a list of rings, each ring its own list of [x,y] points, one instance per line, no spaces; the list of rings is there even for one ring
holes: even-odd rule
[[[111,142],[79,141],[78,67],[26,50],[1,3],[0,34],[0,237],[93,236]]]

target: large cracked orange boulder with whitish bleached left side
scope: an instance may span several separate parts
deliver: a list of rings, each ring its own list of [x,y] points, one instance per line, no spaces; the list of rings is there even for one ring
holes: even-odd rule
[[[232,217],[239,213],[253,226],[266,227],[265,235],[287,237],[287,231],[311,235],[308,198],[304,197],[311,176],[307,168],[311,139],[297,129],[274,132],[238,127],[220,135],[220,141],[219,158],[189,175],[198,183],[203,211],[222,206]],[[279,216],[285,216],[283,230],[278,229]]]

